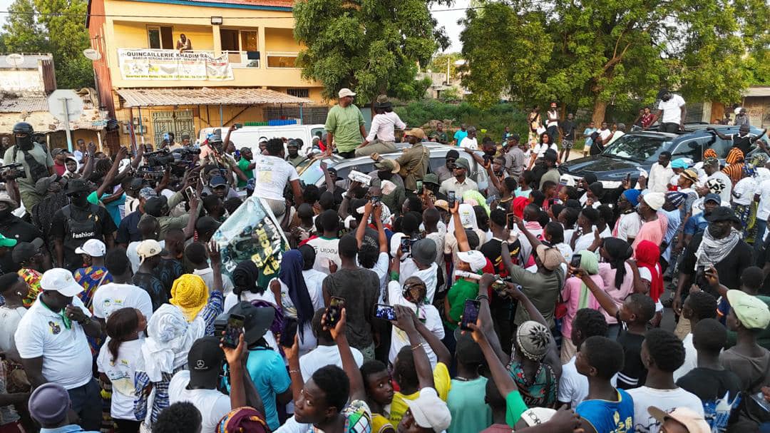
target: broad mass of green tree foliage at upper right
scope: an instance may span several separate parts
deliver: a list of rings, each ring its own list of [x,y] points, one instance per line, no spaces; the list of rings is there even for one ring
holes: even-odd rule
[[[474,102],[506,94],[571,109],[632,109],[663,86],[692,101],[735,102],[768,77],[766,0],[485,0],[460,35]],[[745,56],[748,49],[748,57]]]

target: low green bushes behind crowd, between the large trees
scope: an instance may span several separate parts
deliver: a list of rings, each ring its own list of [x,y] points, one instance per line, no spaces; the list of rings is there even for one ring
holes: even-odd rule
[[[522,136],[527,134],[527,115],[521,112],[514,104],[497,104],[480,109],[469,102],[448,104],[435,99],[411,102],[407,106],[396,107],[398,116],[409,126],[422,126],[431,120],[450,120],[451,131],[460,128],[460,123],[476,126],[479,136],[490,136],[499,142],[503,136],[505,126],[511,128],[511,132]],[[486,133],[480,132],[486,129]]]

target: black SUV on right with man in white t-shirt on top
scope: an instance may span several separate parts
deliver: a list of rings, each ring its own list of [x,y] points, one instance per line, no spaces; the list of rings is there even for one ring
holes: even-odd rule
[[[605,189],[614,189],[621,185],[628,173],[631,173],[633,184],[639,177],[639,169],[650,173],[652,164],[658,162],[661,152],[671,152],[671,159],[686,158],[692,163],[703,159],[706,149],[714,149],[720,159],[727,156],[732,146],[730,140],[723,140],[705,128],[713,126],[725,136],[737,134],[738,126],[721,126],[708,124],[686,125],[681,133],[660,133],[654,130],[636,131],[624,134],[598,155],[574,159],[559,166],[562,180],[582,178],[587,173],[594,173]],[[752,126],[752,136],[762,132]],[[762,137],[765,143],[768,137]],[[749,154],[757,150],[756,144]]]

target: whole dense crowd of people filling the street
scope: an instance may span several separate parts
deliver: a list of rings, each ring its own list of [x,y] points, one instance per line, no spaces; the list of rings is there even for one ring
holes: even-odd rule
[[[561,178],[575,126],[550,112],[536,148],[408,129],[389,159],[403,122],[380,98],[367,134],[353,96],[324,142],[377,170],[323,163],[321,186],[280,138],[156,173],[143,146],[52,155],[17,124],[0,432],[770,431],[765,153],[661,153],[610,190]],[[453,147],[435,171],[429,139]],[[283,231],[275,269],[223,267],[249,203]]]

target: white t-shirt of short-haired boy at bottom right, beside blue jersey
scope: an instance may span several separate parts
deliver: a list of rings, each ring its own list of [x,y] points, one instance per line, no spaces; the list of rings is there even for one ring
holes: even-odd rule
[[[668,413],[675,408],[688,408],[703,416],[701,399],[682,388],[654,389],[643,386],[629,389],[628,394],[634,399],[634,431],[639,433],[658,433],[661,429],[661,423],[647,410],[650,406]]]

